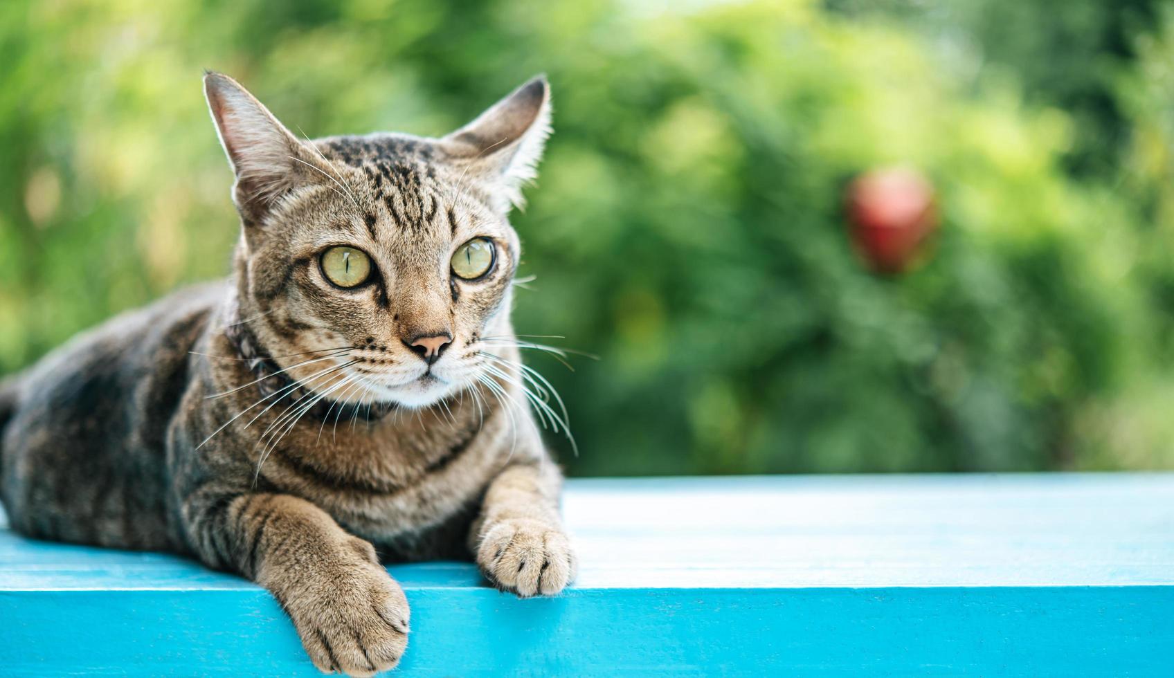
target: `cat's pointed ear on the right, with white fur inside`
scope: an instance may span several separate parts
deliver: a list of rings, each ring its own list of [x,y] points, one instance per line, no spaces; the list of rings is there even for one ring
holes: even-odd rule
[[[538,175],[549,135],[551,87],[539,75],[444,137],[441,145],[470,176],[486,183],[494,206],[505,212],[525,203],[521,187]]]

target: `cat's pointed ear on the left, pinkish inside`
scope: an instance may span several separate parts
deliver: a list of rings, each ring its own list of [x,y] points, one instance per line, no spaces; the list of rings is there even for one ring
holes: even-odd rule
[[[232,198],[247,222],[258,222],[305,174],[313,156],[255,96],[220,73],[204,75],[204,96],[221,145],[236,174]]]

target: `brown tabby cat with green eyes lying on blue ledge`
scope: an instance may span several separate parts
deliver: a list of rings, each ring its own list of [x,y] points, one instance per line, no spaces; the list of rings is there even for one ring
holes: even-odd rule
[[[439,138],[299,140],[225,75],[204,94],[236,178],[234,273],[0,385],[12,527],[238,572],[319,670],[353,676],[407,645],[382,562],[473,560],[558,594],[576,561],[527,408],[507,219],[551,131],[546,79]]]

